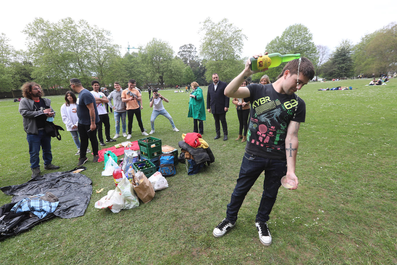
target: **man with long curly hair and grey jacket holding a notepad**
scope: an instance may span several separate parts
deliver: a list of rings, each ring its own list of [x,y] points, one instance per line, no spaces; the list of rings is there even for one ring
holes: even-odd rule
[[[23,117],[23,129],[29,144],[30,164],[32,178],[40,174],[40,147],[43,153],[44,169],[58,169],[59,166],[51,164],[51,137],[44,130],[46,120],[54,117],[51,100],[43,99],[44,91],[39,84],[27,82],[21,87],[23,99],[19,103],[19,113]]]

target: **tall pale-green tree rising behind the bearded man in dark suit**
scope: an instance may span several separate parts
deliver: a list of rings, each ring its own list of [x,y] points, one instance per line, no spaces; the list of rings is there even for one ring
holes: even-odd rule
[[[240,56],[247,37],[226,18],[214,23],[208,17],[200,32],[204,33],[200,55],[206,68],[205,79],[210,81],[216,72],[223,81],[231,81],[241,72]]]

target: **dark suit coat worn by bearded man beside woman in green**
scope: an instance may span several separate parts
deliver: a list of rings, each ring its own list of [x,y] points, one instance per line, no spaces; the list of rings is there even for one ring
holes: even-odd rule
[[[207,92],[207,109],[211,109],[212,114],[225,113],[225,107],[229,108],[229,97],[225,96],[226,83],[219,81],[216,91],[214,83],[208,86]]]

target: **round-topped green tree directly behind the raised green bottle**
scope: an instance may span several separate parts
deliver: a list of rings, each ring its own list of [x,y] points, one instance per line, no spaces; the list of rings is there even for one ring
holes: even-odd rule
[[[280,37],[274,38],[266,45],[269,53],[278,52],[281,54],[296,54],[309,58],[315,65],[317,62],[316,45],[313,42],[313,35],[310,30],[302,24],[294,24],[287,27]],[[270,81],[275,81],[286,63],[279,67],[270,68],[266,74]]]

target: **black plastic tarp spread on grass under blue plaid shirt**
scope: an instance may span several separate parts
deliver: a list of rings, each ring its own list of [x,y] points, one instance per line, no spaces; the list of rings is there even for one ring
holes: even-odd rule
[[[84,168],[83,166],[79,168]],[[11,203],[0,207],[0,240],[15,236],[43,221],[58,216],[73,218],[84,215],[93,191],[90,178],[80,173],[72,173],[77,168],[65,172],[54,172],[32,178],[21,185],[0,188],[7,195],[14,195]],[[29,213],[11,213],[10,210],[23,198],[40,193],[52,192],[59,198],[59,204],[53,213],[43,219],[30,217]]]

